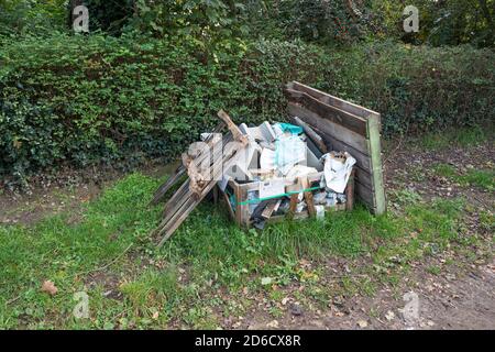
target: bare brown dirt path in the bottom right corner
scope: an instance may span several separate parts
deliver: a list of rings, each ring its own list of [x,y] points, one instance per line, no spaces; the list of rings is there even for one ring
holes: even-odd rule
[[[373,298],[358,296],[339,305],[332,304],[329,310],[320,312],[292,306],[277,320],[257,310],[241,328],[495,329],[495,263],[473,268],[460,277],[416,274],[422,276],[422,283],[418,282],[414,288],[402,287],[398,296],[392,289],[383,288]]]

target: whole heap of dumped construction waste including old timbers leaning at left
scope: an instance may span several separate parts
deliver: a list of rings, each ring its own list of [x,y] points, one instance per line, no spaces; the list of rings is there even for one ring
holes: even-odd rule
[[[356,161],[346,152],[328,151],[317,131],[300,119],[294,124],[238,127],[224,111],[219,118],[222,122],[189,147],[152,200],[157,204],[187,174],[154,232],[161,243],[213,190],[223,194],[239,224],[258,229],[271,217],[307,212],[320,218],[327,208],[348,201],[344,191]],[[222,134],[226,127],[229,132]]]

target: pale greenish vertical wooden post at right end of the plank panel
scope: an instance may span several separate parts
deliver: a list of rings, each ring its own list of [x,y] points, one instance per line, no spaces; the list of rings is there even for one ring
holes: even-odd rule
[[[375,215],[386,211],[385,187],[383,183],[382,144],[380,140],[381,117],[371,114],[367,119],[370,131],[370,152],[372,162],[373,190],[375,201]]]

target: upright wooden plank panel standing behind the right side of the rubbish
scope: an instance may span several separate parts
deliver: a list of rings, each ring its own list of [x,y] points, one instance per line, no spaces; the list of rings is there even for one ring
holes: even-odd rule
[[[287,84],[288,113],[314,129],[329,150],[355,160],[355,194],[375,215],[386,211],[383,183],[381,116],[297,81]]]

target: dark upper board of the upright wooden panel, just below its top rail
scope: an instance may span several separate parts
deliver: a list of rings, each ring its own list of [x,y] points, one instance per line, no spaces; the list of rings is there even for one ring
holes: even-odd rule
[[[366,119],[341,110],[331,105],[327,105],[304,91],[286,89],[285,92],[288,96],[289,101],[297,102],[309,111],[318,113],[323,119],[328,119],[358,134],[366,136]]]

